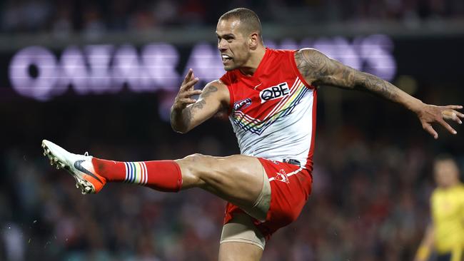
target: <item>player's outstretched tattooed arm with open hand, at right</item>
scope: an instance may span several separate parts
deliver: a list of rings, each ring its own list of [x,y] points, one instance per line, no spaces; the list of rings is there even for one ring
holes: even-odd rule
[[[425,104],[418,98],[401,91],[388,81],[384,81],[370,73],[355,70],[350,66],[345,66],[339,61],[328,58],[316,49],[304,48],[296,51],[295,61],[298,70],[310,84],[369,91],[389,101],[400,103],[417,114],[423,129],[433,135],[434,138],[438,138],[438,133],[433,129],[432,123],[440,123],[450,133],[456,134],[457,132],[445,120],[461,124],[460,118],[464,118],[463,113],[455,111],[463,108],[463,106]]]

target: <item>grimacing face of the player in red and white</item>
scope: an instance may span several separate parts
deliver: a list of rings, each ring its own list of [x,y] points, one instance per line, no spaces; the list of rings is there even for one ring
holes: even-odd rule
[[[246,66],[251,56],[250,37],[242,34],[241,22],[236,19],[219,20],[216,35],[224,70],[232,71]]]

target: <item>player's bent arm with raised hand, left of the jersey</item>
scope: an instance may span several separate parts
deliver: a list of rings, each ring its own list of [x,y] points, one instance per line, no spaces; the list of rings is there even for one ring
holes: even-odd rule
[[[214,116],[218,111],[228,108],[228,90],[221,81],[208,83],[203,91],[193,86],[198,78],[190,69],[171,107],[171,126],[178,133],[186,133],[192,128]],[[198,101],[192,96],[200,95]]]

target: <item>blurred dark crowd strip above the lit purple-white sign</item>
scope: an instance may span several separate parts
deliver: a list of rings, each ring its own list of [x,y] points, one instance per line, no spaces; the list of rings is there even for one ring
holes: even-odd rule
[[[324,24],[332,22],[463,19],[462,0],[6,0],[0,3],[0,32],[73,32],[150,30],[166,26],[216,24],[218,16],[236,7],[255,10],[264,23]]]

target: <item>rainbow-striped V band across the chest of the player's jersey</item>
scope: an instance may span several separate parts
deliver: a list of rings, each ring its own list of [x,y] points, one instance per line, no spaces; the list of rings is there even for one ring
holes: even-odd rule
[[[266,128],[275,123],[278,118],[282,118],[292,113],[293,109],[300,103],[301,98],[308,91],[299,78],[296,78],[291,87],[290,94],[281,99],[263,121],[246,115],[242,111],[233,111],[233,123],[244,131],[250,131],[261,135]]]

